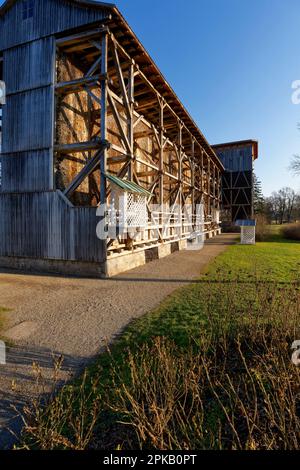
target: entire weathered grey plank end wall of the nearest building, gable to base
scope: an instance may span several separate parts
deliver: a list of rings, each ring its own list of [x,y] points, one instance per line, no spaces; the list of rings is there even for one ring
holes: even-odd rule
[[[62,0],[16,2],[0,18],[7,104],[3,109],[0,256],[97,262],[95,208],[72,207],[53,191],[55,34],[102,20],[105,9]],[[67,33],[66,33],[67,34]]]

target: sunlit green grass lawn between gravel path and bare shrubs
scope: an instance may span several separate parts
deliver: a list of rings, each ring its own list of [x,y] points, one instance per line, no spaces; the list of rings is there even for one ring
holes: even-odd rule
[[[132,323],[119,345],[137,344],[157,335],[187,343],[212,316],[224,316],[226,308],[234,310],[237,317],[239,312],[245,316],[249,309],[259,309],[262,291],[273,295],[274,304],[278,285],[290,287],[298,282],[300,243],[286,242],[274,234],[270,242],[230,246],[198,282],[179,289],[156,311]]]

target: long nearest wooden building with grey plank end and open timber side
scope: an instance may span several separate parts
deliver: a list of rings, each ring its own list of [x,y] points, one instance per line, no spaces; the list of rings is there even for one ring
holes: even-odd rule
[[[1,266],[129,269],[148,250],[183,248],[199,204],[207,236],[219,233],[223,165],[115,5],[7,0],[0,32]],[[134,240],[97,238],[107,174],[149,193],[149,224]]]

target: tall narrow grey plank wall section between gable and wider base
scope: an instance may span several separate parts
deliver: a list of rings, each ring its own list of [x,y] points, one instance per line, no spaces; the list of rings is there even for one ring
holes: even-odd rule
[[[53,189],[54,48],[46,38],[3,53],[2,191]]]

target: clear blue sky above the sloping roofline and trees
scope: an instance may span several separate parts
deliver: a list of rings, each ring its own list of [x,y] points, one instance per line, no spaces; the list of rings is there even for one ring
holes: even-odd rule
[[[0,0],[1,1],[1,0]],[[210,143],[259,140],[256,173],[269,195],[300,190],[299,0],[116,0]]]

